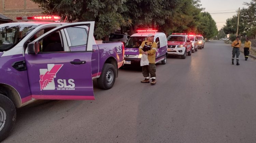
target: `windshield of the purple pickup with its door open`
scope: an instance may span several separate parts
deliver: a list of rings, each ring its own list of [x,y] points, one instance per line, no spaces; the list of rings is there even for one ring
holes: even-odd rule
[[[0,33],[2,34],[0,38],[0,51],[8,51],[13,48],[36,27],[36,25],[0,25]]]

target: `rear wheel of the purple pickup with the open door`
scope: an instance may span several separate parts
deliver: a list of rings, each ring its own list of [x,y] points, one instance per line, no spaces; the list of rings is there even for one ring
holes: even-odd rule
[[[99,88],[108,90],[115,83],[116,69],[112,64],[104,64],[100,77],[97,79]]]

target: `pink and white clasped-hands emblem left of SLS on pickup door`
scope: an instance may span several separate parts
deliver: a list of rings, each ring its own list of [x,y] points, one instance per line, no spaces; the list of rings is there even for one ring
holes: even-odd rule
[[[40,71],[40,89],[42,90],[55,90],[54,78],[63,64],[47,64],[47,69],[39,69]]]

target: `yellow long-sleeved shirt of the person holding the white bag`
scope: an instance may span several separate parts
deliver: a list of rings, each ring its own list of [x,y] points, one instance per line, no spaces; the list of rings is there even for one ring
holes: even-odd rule
[[[141,43],[141,46],[139,47],[139,52],[141,54],[144,54],[144,51],[142,50],[142,48],[144,47],[145,43],[147,42],[148,46],[151,46],[151,50],[148,50],[147,53],[147,59],[149,61],[149,63],[151,64],[155,64],[156,63],[156,50],[157,50],[157,44],[156,42],[148,42],[148,41],[143,41]]]

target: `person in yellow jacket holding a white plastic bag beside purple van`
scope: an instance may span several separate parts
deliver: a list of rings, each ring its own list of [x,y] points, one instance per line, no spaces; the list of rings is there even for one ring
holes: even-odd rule
[[[145,78],[141,81],[142,83],[149,83],[150,76],[152,80],[151,84],[156,84],[156,50],[157,44],[154,42],[154,35],[148,34],[147,40],[143,41],[139,47],[140,54],[146,54],[149,61],[149,65],[142,66],[142,74]]]

